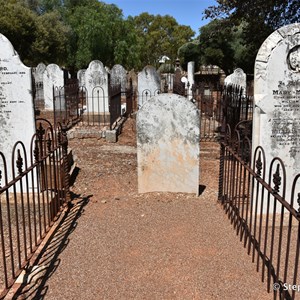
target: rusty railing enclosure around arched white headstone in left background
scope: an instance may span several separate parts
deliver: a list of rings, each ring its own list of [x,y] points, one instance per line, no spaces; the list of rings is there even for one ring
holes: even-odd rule
[[[68,127],[107,126],[113,129],[122,116],[121,86],[116,85],[105,91],[95,86],[91,95],[85,87],[78,85],[78,80],[69,80],[63,87],[53,87],[53,110],[39,110],[39,116],[48,119],[52,124],[66,123]],[[124,97],[125,98],[125,97]],[[124,99],[130,108],[130,100]],[[131,104],[132,107],[132,104]]]

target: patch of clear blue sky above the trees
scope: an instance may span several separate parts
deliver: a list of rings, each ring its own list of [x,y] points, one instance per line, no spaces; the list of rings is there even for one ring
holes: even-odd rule
[[[143,12],[151,15],[170,15],[179,25],[190,26],[199,34],[199,28],[210,22],[202,19],[204,9],[216,5],[215,0],[102,0],[115,4],[123,11],[125,18],[137,16]]]

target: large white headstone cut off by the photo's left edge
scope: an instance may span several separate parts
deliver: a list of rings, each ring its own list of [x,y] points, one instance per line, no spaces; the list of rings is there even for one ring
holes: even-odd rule
[[[31,69],[21,62],[10,41],[2,34],[0,49],[0,151],[6,157],[8,178],[11,179],[14,144],[21,141],[29,151],[35,133],[32,78]],[[2,161],[0,168],[3,171],[1,164]]]

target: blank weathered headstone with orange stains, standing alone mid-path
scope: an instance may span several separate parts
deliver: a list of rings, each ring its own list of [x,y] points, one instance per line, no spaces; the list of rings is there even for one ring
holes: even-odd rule
[[[200,117],[185,97],[160,94],[137,113],[139,193],[199,192]]]

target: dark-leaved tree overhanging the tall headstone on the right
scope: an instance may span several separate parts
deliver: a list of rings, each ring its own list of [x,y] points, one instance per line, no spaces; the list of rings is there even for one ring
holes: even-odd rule
[[[249,61],[253,60],[253,68],[260,46],[274,30],[300,21],[299,0],[217,0],[217,3],[218,5],[205,10],[205,16],[221,18],[228,28],[242,26],[240,36],[248,70]]]

